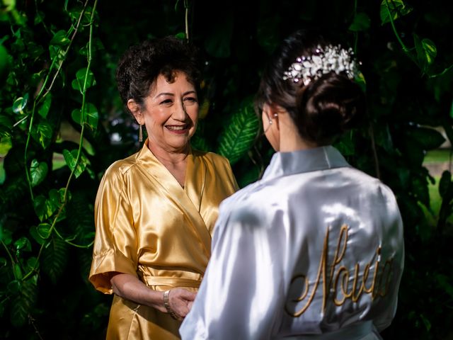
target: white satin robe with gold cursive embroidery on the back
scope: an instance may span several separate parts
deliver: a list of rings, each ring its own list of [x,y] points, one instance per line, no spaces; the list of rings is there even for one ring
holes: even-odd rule
[[[404,261],[394,194],[334,147],[278,152],[226,198],[182,339],[381,339]]]

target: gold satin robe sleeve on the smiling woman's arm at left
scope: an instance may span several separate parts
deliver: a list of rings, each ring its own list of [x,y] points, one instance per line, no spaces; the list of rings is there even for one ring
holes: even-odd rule
[[[126,188],[125,174],[114,164],[105,172],[96,196],[89,280],[103,293],[113,293],[110,278],[114,273],[137,276],[137,234]]]

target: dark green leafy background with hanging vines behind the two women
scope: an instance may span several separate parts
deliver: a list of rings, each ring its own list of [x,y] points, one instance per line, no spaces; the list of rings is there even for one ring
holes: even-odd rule
[[[405,224],[406,268],[384,339],[453,339],[453,184],[423,166],[453,140],[453,11],[441,0],[0,1],[0,339],[104,339],[111,297],[88,283],[103,171],[137,151],[114,81],[144,38],[200,47],[205,103],[193,144],[229,157],[241,186],[270,159],[253,94],[296,28],[341,32],[362,60],[369,116],[336,145],[387,183]],[[220,9],[217,9],[220,8]],[[75,136],[75,137],[74,137]],[[442,204],[430,205],[435,183]]]

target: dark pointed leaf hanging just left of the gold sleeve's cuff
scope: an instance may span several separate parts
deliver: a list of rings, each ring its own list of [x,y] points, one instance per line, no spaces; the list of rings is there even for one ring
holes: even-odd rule
[[[57,284],[68,261],[68,246],[57,237],[42,251],[41,268],[49,276],[52,283]]]

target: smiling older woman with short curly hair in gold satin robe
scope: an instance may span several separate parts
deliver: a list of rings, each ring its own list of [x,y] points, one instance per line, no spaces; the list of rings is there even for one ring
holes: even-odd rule
[[[105,171],[96,196],[89,280],[115,294],[107,339],[179,338],[218,205],[237,189],[227,159],[190,147],[199,81],[193,47],[176,38],[133,46],[118,64],[122,100],[148,138]]]

